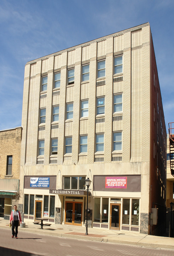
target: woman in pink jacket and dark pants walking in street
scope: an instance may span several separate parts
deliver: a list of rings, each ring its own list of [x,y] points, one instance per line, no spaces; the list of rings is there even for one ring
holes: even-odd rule
[[[14,236],[15,236],[15,238],[17,238],[19,221],[20,221],[20,223],[22,223],[20,211],[17,210],[17,206],[15,204],[14,210],[11,211],[11,215],[10,215],[12,238]]]

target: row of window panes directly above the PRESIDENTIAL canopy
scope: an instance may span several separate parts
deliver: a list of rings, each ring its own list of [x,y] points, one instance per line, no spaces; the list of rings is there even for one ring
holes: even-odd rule
[[[85,190],[86,177],[64,177],[63,189]]]

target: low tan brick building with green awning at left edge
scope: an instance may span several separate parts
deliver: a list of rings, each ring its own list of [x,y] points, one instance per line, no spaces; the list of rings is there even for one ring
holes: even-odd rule
[[[22,127],[0,131],[0,217],[9,219],[17,204]]]

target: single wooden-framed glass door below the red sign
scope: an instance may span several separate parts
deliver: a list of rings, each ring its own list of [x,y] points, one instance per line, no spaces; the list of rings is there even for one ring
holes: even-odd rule
[[[111,204],[110,229],[120,230],[120,204]]]

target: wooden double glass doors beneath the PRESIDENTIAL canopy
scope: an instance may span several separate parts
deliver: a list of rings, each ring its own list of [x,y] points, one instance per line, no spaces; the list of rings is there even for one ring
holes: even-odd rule
[[[82,226],[82,203],[65,203],[65,224]]]

